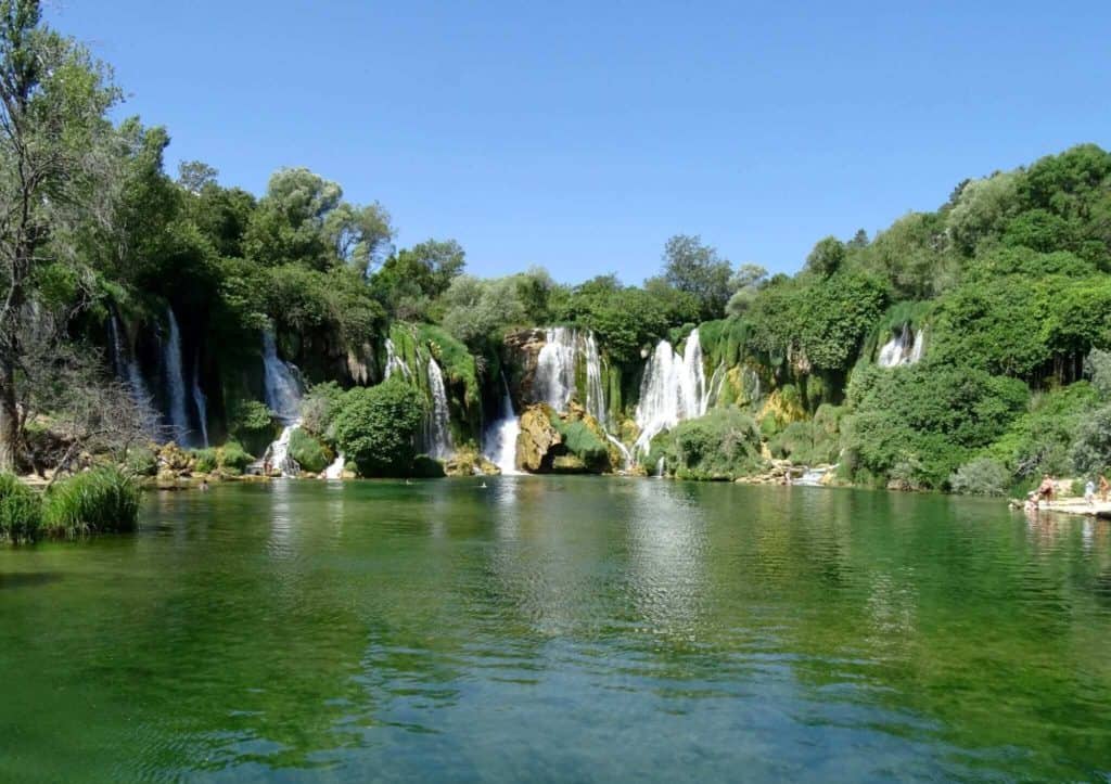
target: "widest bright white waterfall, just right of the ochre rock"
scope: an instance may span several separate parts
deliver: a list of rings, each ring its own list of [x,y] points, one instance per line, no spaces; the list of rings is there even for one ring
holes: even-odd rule
[[[640,435],[633,451],[645,453],[653,438],[674,428],[683,420],[705,413],[705,372],[702,369],[702,345],[698,330],[687,338],[680,356],[671,343],[661,340],[644,368],[640,384],[640,402],[635,420]]]

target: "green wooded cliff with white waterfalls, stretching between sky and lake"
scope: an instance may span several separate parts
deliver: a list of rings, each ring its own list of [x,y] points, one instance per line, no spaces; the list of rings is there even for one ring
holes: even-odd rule
[[[0,3],[0,468],[529,471],[1003,493],[1111,464],[1111,154],[959,183],[793,275],[481,279],[280,168],[261,195],[112,122],[110,69]],[[800,260],[801,261],[801,260]],[[172,446],[167,446],[172,442]],[[778,473],[777,473],[778,472]]]

